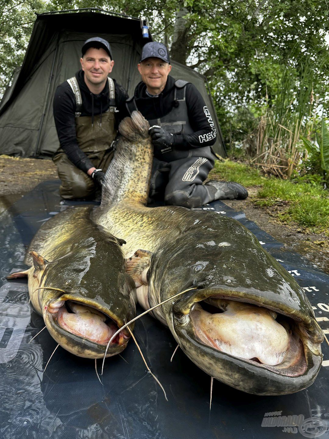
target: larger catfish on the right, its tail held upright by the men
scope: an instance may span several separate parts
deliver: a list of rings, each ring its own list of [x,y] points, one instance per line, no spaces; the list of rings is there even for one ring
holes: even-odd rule
[[[105,176],[107,202],[93,212],[95,222],[127,241],[127,272],[139,303],[148,309],[190,290],[153,315],[197,366],[258,395],[305,389],[322,363],[323,334],[303,289],[236,220],[146,207],[153,158],[148,128],[137,112],[121,122]]]

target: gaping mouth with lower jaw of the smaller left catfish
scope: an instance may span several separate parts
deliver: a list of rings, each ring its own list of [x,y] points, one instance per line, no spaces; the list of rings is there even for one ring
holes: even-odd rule
[[[73,300],[54,299],[44,307],[44,320],[52,337],[69,352],[101,358],[112,335],[119,329],[112,317],[96,307]],[[125,349],[130,334],[121,331],[111,342],[107,356]]]

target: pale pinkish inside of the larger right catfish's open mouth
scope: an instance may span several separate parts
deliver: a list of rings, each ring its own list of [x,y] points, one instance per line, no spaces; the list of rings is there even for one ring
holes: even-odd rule
[[[300,324],[252,303],[208,297],[190,309],[198,342],[280,375],[304,374]]]

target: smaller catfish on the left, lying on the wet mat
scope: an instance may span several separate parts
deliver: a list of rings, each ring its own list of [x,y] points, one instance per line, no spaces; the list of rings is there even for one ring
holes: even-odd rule
[[[28,276],[32,305],[64,349],[102,358],[114,332],[136,315],[136,288],[125,272],[125,241],[94,224],[91,209],[68,208],[43,224],[25,257],[31,268],[8,278]],[[122,330],[107,356],[129,338]]]

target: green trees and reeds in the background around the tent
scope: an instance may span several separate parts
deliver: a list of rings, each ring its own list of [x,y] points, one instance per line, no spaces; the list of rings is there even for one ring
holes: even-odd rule
[[[3,0],[0,96],[21,65],[35,12],[85,7],[147,17],[172,59],[207,76],[226,143],[243,143],[266,172],[294,175],[305,155],[300,135],[314,144],[316,109],[326,117],[329,108],[326,0]],[[329,137],[322,138],[328,169]],[[314,157],[308,164],[317,173]]]

